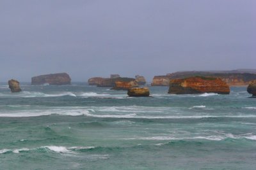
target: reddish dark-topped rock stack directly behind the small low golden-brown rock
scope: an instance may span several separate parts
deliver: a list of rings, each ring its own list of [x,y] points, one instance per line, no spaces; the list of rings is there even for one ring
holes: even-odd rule
[[[132,87],[139,87],[138,82],[134,78],[116,78],[119,80],[115,81],[115,86],[112,90],[127,90]]]

